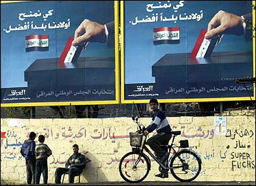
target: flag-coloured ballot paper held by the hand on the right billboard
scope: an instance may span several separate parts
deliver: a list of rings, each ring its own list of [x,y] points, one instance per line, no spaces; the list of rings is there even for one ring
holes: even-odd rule
[[[190,54],[190,57],[210,57],[216,44],[220,42],[220,37],[214,37],[211,40],[205,39],[206,29],[201,29],[199,37],[196,40],[196,44]]]

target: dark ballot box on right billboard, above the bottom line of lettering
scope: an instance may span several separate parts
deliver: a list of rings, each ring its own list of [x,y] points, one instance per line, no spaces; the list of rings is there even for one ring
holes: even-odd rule
[[[218,86],[225,79],[253,76],[253,52],[213,52],[206,58],[192,58],[189,53],[166,54],[152,66],[152,76],[159,87]]]

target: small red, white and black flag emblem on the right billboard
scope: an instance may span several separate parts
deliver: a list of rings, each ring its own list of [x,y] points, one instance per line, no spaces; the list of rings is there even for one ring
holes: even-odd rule
[[[156,44],[179,44],[179,27],[159,27],[153,29],[153,42]]]

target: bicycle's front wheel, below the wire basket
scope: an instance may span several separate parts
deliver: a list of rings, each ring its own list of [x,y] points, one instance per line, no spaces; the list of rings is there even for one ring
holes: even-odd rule
[[[129,183],[139,183],[149,174],[149,157],[142,153],[130,152],[120,159],[119,172],[122,178]]]

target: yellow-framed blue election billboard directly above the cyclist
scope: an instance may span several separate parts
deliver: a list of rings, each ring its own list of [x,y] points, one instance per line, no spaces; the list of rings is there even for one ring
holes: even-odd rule
[[[252,30],[243,30],[246,22],[241,21],[244,15],[255,25],[252,1],[121,1],[120,5],[123,104],[145,103],[152,97],[159,102],[255,97],[253,83],[235,83],[237,78],[255,77],[255,37]],[[220,14],[226,19],[217,21]],[[242,30],[234,33],[231,23],[239,18]],[[229,23],[229,33],[205,39],[208,24],[214,29],[220,22]]]

